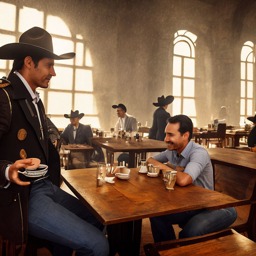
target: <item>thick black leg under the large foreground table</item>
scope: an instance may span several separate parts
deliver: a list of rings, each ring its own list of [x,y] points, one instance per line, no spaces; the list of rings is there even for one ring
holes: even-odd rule
[[[139,256],[142,220],[107,226],[109,256]]]

